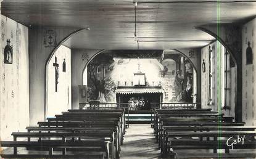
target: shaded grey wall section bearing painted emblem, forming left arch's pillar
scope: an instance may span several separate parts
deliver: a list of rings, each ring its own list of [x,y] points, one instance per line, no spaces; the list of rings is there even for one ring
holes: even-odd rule
[[[56,32],[57,44],[77,28],[66,27],[30,27],[29,28],[29,63],[30,63],[30,126],[36,126],[38,121],[45,119],[45,66],[54,46],[46,47],[44,33],[47,30]]]

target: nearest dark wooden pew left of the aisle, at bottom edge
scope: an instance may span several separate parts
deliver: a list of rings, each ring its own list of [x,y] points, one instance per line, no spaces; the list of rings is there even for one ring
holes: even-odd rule
[[[90,153],[83,155],[83,153],[79,156],[88,157],[88,158],[102,158],[101,152],[107,152],[109,150],[109,142],[105,142],[105,140],[91,140],[91,141],[1,141],[1,147],[14,147],[13,154],[1,154],[3,158],[39,158],[39,157],[47,157],[47,158],[68,158],[68,157],[78,157],[76,155],[67,155],[62,152],[62,155],[54,154],[55,149],[67,149],[67,150],[76,150],[78,152],[88,152],[90,147],[99,147],[98,150],[100,153],[97,155],[90,155]],[[17,153],[17,147],[47,147],[47,155],[42,154],[29,154],[23,155]],[[95,149],[91,149],[95,150]],[[104,155],[103,155],[104,158]]]

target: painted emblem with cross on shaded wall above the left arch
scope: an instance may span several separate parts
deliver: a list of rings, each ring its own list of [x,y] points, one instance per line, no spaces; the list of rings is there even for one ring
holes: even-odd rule
[[[55,47],[57,45],[57,33],[54,30],[44,31],[44,47]]]

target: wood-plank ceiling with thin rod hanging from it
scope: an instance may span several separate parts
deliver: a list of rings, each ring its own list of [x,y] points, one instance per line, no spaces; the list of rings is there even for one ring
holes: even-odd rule
[[[1,14],[24,25],[87,28],[68,39],[76,49],[138,49],[133,0],[4,0]],[[214,38],[194,27],[246,22],[256,1],[139,0],[136,35],[139,49],[202,47]],[[218,11],[218,12],[217,12]],[[217,17],[217,14],[220,16]]]

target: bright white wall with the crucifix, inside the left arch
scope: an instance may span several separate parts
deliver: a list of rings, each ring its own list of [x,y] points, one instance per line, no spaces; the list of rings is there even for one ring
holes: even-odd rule
[[[57,65],[59,65],[57,68],[54,67],[55,60],[57,60]],[[58,73],[57,91],[56,69]],[[68,47],[62,45],[57,49],[49,62],[47,73],[46,118],[71,108],[71,50]]]

